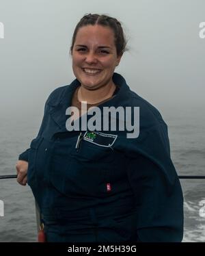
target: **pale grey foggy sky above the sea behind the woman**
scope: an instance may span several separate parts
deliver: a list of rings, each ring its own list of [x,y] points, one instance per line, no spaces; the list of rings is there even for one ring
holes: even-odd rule
[[[70,84],[69,47],[86,13],[122,21],[129,50],[116,72],[163,114],[204,112],[204,0],[0,0],[0,117],[42,115],[51,91]]]

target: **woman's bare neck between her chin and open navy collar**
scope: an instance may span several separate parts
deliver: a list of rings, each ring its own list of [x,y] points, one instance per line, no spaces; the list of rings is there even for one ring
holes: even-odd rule
[[[100,87],[96,90],[87,90],[81,85],[79,88],[78,99],[80,102],[87,101],[88,104],[95,104],[112,97],[115,88],[116,86],[113,82],[112,84],[108,84],[107,86]]]

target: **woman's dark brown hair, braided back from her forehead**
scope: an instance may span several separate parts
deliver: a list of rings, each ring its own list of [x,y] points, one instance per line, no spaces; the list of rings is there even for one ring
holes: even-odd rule
[[[71,55],[72,55],[72,49],[77,36],[77,32],[79,31],[79,28],[87,25],[101,25],[104,27],[110,27],[114,33],[117,55],[119,56],[124,53],[125,47],[126,47],[126,38],[124,36],[124,31],[122,29],[120,21],[118,21],[116,18],[107,16],[107,15],[86,14],[85,16],[83,16],[83,18],[81,18],[81,20],[79,21],[79,23],[74,29],[74,33],[72,35],[72,43],[70,47]]]

